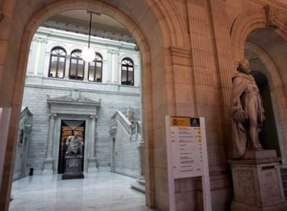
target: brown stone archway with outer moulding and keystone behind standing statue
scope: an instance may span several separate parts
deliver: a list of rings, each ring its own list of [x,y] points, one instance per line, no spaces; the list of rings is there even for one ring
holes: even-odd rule
[[[272,12],[275,10],[269,5],[261,8],[261,10],[242,12],[234,20],[231,37],[234,44],[234,61],[238,62],[245,56],[250,60],[252,70],[266,76],[270,87],[270,91],[266,91],[269,93],[265,94],[270,104],[266,106],[273,110],[275,124],[272,128],[277,131],[282,165],[286,167],[287,137],[283,132],[286,130],[284,119],[287,115],[285,97],[287,89],[284,78],[286,75],[287,42],[284,37],[286,30],[281,26],[281,23],[272,19],[272,15],[274,15]],[[280,14],[279,10],[277,12],[277,15]],[[255,74],[255,77],[262,76],[261,74]],[[267,83],[265,84],[266,86],[263,87],[268,89]],[[272,146],[272,148],[277,148],[277,146]]]

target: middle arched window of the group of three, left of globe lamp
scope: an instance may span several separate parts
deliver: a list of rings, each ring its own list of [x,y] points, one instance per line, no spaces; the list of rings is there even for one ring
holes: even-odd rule
[[[71,52],[70,58],[70,71],[69,71],[69,78],[82,80],[84,79],[84,67],[85,62],[81,58],[82,51],[76,50]]]

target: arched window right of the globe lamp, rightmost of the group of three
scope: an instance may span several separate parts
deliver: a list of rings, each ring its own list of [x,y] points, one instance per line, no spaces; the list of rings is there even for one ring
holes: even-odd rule
[[[101,54],[96,53],[93,62],[89,62],[89,81],[102,82],[103,58]]]

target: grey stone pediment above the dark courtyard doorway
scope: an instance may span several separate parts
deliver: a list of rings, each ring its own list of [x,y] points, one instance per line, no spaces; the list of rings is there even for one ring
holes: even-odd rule
[[[72,90],[69,95],[50,97],[47,95],[51,113],[66,115],[96,115],[101,99],[98,101],[82,96],[79,90]]]

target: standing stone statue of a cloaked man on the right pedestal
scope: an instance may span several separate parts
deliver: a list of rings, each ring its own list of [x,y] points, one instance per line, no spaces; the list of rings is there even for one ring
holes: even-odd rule
[[[237,71],[232,77],[232,157],[242,158],[246,149],[262,150],[258,134],[265,117],[247,59],[238,63]]]

